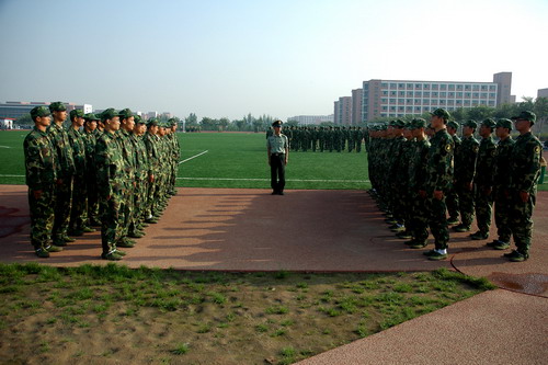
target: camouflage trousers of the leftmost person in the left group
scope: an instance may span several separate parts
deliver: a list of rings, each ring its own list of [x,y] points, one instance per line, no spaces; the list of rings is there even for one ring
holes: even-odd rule
[[[28,208],[31,212],[31,243],[35,250],[49,246],[54,227],[54,186],[43,190],[39,198],[28,190]]]

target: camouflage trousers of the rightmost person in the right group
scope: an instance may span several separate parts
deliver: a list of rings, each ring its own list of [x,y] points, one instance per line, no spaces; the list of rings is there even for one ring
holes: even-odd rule
[[[523,203],[518,192],[512,194],[512,206],[510,209],[510,229],[514,236],[517,251],[528,253],[533,233],[533,210],[535,208],[536,195],[529,194],[526,203]]]

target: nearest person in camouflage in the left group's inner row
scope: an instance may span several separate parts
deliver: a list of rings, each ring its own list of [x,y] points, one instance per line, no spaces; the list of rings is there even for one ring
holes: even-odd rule
[[[104,260],[118,261],[125,252],[117,250],[122,238],[121,209],[126,187],[124,156],[116,132],[119,130],[119,113],[107,109],[101,114],[105,130],[95,146],[96,182],[101,212],[101,243]]]

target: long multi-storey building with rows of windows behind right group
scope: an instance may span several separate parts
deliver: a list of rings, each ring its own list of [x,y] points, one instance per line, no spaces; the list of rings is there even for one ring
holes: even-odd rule
[[[379,80],[363,82],[362,122],[376,117],[420,115],[437,107],[454,111],[511,103],[512,72],[493,76],[493,82]]]

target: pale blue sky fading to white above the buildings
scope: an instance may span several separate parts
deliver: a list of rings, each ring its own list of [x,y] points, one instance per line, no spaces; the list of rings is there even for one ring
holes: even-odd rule
[[[548,88],[547,0],[0,0],[0,102],[230,119],[333,113],[370,79]]]

